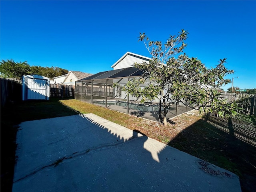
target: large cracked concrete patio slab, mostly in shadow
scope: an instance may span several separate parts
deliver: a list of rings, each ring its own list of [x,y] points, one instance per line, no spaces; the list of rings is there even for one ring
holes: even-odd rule
[[[22,122],[13,192],[240,192],[234,173],[94,114]]]

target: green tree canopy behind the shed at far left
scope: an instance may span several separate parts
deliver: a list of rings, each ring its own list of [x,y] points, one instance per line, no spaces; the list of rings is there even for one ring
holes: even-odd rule
[[[30,66],[27,61],[14,62],[14,60],[2,60],[0,62],[0,73],[4,78],[17,78],[21,79],[22,75],[26,74],[38,74],[53,78],[68,73],[68,70],[58,67],[40,67]]]

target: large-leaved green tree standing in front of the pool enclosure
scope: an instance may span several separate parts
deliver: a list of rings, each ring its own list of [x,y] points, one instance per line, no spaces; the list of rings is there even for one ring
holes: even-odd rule
[[[178,102],[198,106],[200,113],[216,111],[226,117],[237,114],[237,104],[222,100],[217,91],[230,83],[224,77],[233,73],[233,70],[224,66],[226,59],[220,60],[215,68],[208,69],[197,58],[188,58],[185,53],[182,54],[187,36],[188,32],[181,30],[176,36],[170,35],[163,44],[150,41],[145,33],[140,33],[139,41],[144,42],[152,60],[135,63],[134,66],[144,71],[144,74],[139,79],[128,81],[122,90],[140,98],[142,103],[150,103],[158,98],[164,106],[164,124],[167,123],[169,107]]]

